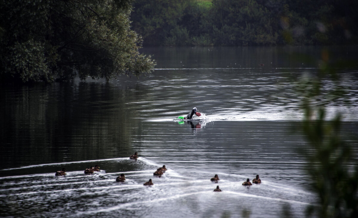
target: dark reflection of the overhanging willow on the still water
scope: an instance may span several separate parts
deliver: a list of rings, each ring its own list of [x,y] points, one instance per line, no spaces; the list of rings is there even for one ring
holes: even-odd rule
[[[126,103],[145,93],[139,86],[113,89],[100,83],[10,89],[1,115],[1,144],[16,158],[3,153],[2,162],[14,166],[130,154],[131,137],[141,129],[140,120],[133,119],[135,105]]]

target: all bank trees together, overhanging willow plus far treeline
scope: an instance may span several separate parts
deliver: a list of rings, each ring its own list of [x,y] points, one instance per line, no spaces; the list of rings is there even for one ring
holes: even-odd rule
[[[0,3],[0,81],[151,73],[145,46],[358,44],[352,0],[30,0]]]

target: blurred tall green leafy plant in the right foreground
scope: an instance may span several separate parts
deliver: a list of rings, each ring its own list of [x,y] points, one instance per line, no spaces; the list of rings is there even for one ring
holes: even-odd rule
[[[306,170],[309,186],[318,194],[319,205],[311,205],[307,212],[320,217],[358,216],[358,164],[354,162],[352,149],[341,137],[341,120],[338,114],[333,120],[325,117],[327,105],[348,101],[349,95],[340,85],[337,65],[329,63],[328,52],[322,52],[322,67],[318,74],[305,76],[299,85],[304,96],[302,109],[305,117],[301,128],[309,142],[303,150],[307,159]],[[323,83],[332,87],[323,91]]]

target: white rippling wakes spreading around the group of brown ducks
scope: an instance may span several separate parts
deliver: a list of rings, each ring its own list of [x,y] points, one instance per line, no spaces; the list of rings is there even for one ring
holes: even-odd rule
[[[155,207],[160,202],[166,202],[174,199],[186,200],[196,196],[199,199],[216,200],[218,196],[238,198],[256,198],[270,200],[275,202],[287,202],[291,204],[310,203],[306,198],[312,197],[311,193],[299,190],[296,187],[279,186],[270,180],[262,180],[262,184],[253,184],[252,187],[242,186],[247,175],[217,172],[222,177],[218,183],[211,182],[213,172],[208,170],[195,170],[194,173],[184,173],[174,170],[167,165],[166,172],[161,177],[153,176],[155,168],[163,166],[164,160],[155,162],[151,159],[139,157],[137,162],[141,162],[142,170],[117,170],[117,172],[106,173],[105,170],[95,172],[91,175],[85,175],[83,171],[69,171],[63,177],[56,177],[53,173],[40,173],[32,175],[18,175],[10,177],[0,177],[4,183],[0,184],[0,198],[15,196],[21,199],[38,199],[39,201],[49,201],[55,198],[92,198],[86,204],[94,204],[94,207],[84,207],[83,211],[78,209],[66,213],[66,217],[78,217],[80,215],[106,213],[121,209],[139,209],[142,207]],[[19,168],[11,168],[4,170],[26,169],[34,167],[44,167],[49,165],[66,165],[87,162],[126,162],[134,163],[129,158],[110,158],[99,160],[84,160],[62,163],[49,163],[29,165]],[[122,163],[121,163],[122,164]],[[174,166],[173,166],[174,167]],[[105,168],[105,167],[104,167]],[[39,169],[40,170],[40,169]],[[116,182],[117,175],[124,173],[126,180],[123,183]],[[154,185],[147,187],[143,183],[153,179]],[[11,180],[14,179],[14,180]],[[215,187],[219,185],[223,190],[220,193],[213,192]],[[250,193],[247,193],[247,192]],[[288,195],[287,195],[288,193]],[[283,196],[291,199],[285,199]],[[303,197],[300,197],[303,195]],[[96,196],[96,197],[95,197]],[[238,197],[233,197],[238,196]],[[282,197],[281,197],[282,196]],[[144,198],[143,198],[144,197]],[[114,206],[108,206],[106,201],[108,198],[115,199]],[[80,209],[81,210],[81,209]],[[96,216],[96,215],[95,215]]]

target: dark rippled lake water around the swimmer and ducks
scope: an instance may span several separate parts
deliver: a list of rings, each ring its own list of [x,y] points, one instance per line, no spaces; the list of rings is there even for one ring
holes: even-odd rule
[[[146,48],[158,63],[146,78],[2,86],[0,216],[279,217],[289,207],[304,217],[317,197],[297,152],[306,140],[295,128],[303,118],[295,84],[327,55],[340,62],[357,51]],[[326,105],[328,119],[343,114],[355,163],[357,69],[354,61],[337,67],[351,104]],[[335,86],[326,79],[323,87]],[[194,106],[200,120],[174,119]],[[139,158],[129,159],[134,152]],[[100,172],[83,173],[96,164]],[[167,172],[154,177],[162,165]],[[55,177],[62,168],[67,175]],[[127,179],[117,183],[121,173]],[[256,174],[261,184],[242,185]],[[144,186],[149,179],[154,185]]]

